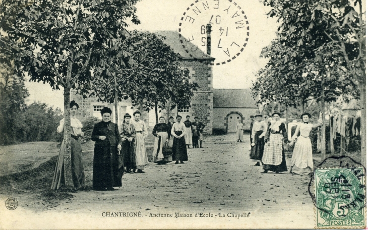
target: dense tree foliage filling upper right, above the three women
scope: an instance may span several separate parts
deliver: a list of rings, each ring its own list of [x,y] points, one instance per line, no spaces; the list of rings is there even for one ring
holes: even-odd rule
[[[356,31],[351,28],[365,30],[365,24],[357,24],[357,13],[348,1],[267,0],[264,5],[272,7],[268,16],[278,17],[280,26],[277,38],[262,51],[270,61],[253,86],[262,102],[296,106],[309,97],[320,100],[323,78],[326,101],[356,92],[357,78],[352,78],[348,66],[365,57],[358,55]]]

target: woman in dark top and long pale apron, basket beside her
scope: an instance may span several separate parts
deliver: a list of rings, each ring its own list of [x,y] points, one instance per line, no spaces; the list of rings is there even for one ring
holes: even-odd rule
[[[160,123],[156,124],[152,130],[153,136],[155,136],[155,142],[153,144],[153,162],[157,164],[166,164],[167,162],[172,161],[172,156],[165,157],[163,155],[163,147],[165,146],[166,142],[168,142],[168,137],[170,135],[170,128],[165,123],[165,118],[160,117]]]

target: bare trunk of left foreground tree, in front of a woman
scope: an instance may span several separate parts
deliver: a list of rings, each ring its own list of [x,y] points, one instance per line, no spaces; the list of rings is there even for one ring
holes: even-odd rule
[[[70,143],[70,86],[64,87],[64,178],[65,186],[74,186],[72,178],[72,148]]]

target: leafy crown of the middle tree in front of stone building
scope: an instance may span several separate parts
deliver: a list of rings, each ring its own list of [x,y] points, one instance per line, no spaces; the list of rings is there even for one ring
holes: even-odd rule
[[[147,111],[155,108],[156,112],[156,108],[190,105],[198,85],[190,82],[188,69],[180,67],[181,56],[164,43],[165,37],[150,32],[131,33],[124,44],[132,54],[132,66],[121,66],[114,79],[101,74],[79,93],[108,103],[131,98],[133,106]]]

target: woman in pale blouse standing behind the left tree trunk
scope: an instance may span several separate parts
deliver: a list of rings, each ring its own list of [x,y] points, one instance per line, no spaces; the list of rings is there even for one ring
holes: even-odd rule
[[[79,108],[79,105],[73,100],[70,102],[70,144],[71,144],[71,161],[72,161],[72,180],[75,188],[80,189],[84,186],[85,177],[84,177],[84,167],[82,160],[82,148],[78,139],[80,136],[83,136],[82,132],[82,123],[76,119],[76,113]],[[58,133],[64,132],[64,123],[65,120],[60,121],[60,125],[57,127]],[[57,158],[55,171],[53,175],[53,180],[51,184],[51,189],[57,190],[62,186],[65,186],[65,177],[64,177],[64,155],[65,155],[65,142],[63,140],[62,145],[60,146],[60,152]]]

